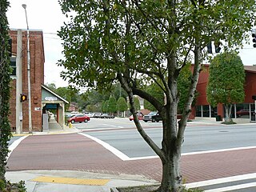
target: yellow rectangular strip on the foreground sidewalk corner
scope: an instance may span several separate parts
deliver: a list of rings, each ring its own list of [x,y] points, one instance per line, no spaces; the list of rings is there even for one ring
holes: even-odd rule
[[[93,179],[93,178],[57,178],[57,177],[38,177],[31,179],[32,182],[50,182],[73,185],[105,186],[110,179]]]

